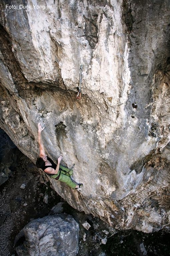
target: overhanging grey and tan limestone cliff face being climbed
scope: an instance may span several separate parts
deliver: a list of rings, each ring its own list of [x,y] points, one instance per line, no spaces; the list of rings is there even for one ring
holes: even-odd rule
[[[45,125],[47,154],[83,183],[51,179],[74,208],[157,231],[170,218],[169,1],[47,2],[0,3],[0,126],[35,162]]]

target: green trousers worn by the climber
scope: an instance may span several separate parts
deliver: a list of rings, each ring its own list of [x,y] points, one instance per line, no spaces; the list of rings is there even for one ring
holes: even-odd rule
[[[74,183],[70,177],[73,174],[73,170],[70,170],[64,166],[60,166],[59,170],[60,170],[60,177],[58,180],[65,182],[70,188],[75,189],[77,184]]]

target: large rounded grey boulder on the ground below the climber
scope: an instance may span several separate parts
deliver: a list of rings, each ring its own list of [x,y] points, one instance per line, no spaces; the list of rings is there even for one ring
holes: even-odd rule
[[[69,215],[35,219],[23,228],[17,239],[22,236],[25,242],[16,248],[19,256],[76,256],[78,252],[79,225]]]

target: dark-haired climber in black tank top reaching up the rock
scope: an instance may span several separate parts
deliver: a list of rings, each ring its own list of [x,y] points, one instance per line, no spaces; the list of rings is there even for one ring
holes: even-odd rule
[[[40,148],[40,157],[37,158],[36,166],[43,169],[43,171],[45,171],[45,173],[47,173],[47,175],[51,176],[52,178],[65,182],[70,188],[79,189],[83,186],[83,184],[76,184],[72,181],[70,176],[73,174],[73,171],[60,165],[62,155],[59,156],[58,163],[55,164],[53,160],[51,160],[51,158],[45,154],[41,135],[41,132],[44,128],[45,127],[42,127],[42,123],[38,123],[38,145]]]

